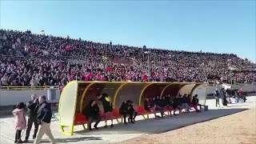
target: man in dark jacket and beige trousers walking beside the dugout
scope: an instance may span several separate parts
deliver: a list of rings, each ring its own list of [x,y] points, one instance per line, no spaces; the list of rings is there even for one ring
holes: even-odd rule
[[[43,134],[46,134],[50,138],[50,142],[55,144],[55,139],[50,130],[50,119],[52,117],[52,112],[50,109],[50,104],[46,102],[46,96],[42,95],[38,99],[38,134],[35,138],[34,144],[39,144]]]

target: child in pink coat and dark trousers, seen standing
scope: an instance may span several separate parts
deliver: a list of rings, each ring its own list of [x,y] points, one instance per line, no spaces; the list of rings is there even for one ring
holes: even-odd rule
[[[25,104],[23,102],[18,102],[16,109],[13,111],[15,118],[15,143],[22,143],[21,134],[22,130],[26,129],[26,116],[25,116]]]

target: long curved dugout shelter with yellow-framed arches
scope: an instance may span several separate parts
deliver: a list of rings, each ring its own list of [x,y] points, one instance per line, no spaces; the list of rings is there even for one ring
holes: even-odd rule
[[[82,110],[91,99],[97,99],[97,94],[103,93],[110,96],[114,108],[114,118],[119,118],[118,108],[122,102],[128,99],[134,102],[134,107],[138,111],[143,108],[144,98],[152,98],[157,95],[166,96],[166,94],[170,94],[173,98],[178,94],[198,94],[199,103],[205,105],[207,85],[207,83],[194,82],[72,81],[62,90],[58,105],[58,122],[63,134],[72,135],[74,133],[74,126],[84,126],[87,122],[86,118],[82,115]],[[102,111],[102,106],[100,105],[99,107]]]

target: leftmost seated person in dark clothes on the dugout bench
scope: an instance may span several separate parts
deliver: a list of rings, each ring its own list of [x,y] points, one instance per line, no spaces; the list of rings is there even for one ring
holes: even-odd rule
[[[98,129],[98,123],[101,122],[101,117],[99,115],[99,108],[94,100],[90,100],[89,105],[82,112],[86,118],[89,119],[88,128],[91,129],[91,123],[95,122],[94,128]]]

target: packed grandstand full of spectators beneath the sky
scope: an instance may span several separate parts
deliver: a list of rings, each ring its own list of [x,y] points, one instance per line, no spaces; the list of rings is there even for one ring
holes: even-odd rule
[[[236,54],[162,50],[0,30],[2,86],[110,82],[256,82],[256,64]]]

